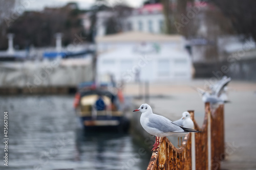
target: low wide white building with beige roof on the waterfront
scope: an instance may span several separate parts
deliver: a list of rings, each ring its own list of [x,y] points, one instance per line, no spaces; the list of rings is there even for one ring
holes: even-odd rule
[[[126,32],[97,37],[97,74],[102,81],[171,81],[191,79],[191,59],[180,35]]]

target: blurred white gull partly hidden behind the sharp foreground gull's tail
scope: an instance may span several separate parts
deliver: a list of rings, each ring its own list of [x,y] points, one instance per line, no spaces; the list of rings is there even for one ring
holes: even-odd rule
[[[174,123],[184,128],[194,129],[194,122],[190,118],[190,114],[188,112],[183,112],[182,117],[178,120],[175,120]],[[178,147],[180,147],[179,138],[181,137],[181,142],[182,142],[182,136],[184,135],[178,135]]]

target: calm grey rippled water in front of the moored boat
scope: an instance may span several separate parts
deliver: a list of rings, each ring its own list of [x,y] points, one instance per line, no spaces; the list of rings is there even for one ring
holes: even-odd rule
[[[0,130],[8,111],[8,167],[0,169],[145,169],[150,154],[129,134],[78,129],[73,95],[0,97]]]

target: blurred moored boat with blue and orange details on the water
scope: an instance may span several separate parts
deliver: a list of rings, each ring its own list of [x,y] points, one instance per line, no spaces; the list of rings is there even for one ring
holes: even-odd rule
[[[120,89],[101,83],[81,83],[75,95],[74,107],[79,122],[86,130],[129,129],[129,119],[125,117],[122,105],[124,99]]]

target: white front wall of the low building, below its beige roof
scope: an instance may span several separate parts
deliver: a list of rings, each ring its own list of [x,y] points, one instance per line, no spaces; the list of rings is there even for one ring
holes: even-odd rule
[[[160,52],[148,54],[135,51],[138,43],[99,43],[98,76],[113,74],[117,80],[135,81],[140,69],[140,80],[171,81],[191,79],[191,60],[184,48],[175,43],[158,43]],[[151,46],[152,43],[148,43]],[[104,52],[103,52],[103,51]]]

